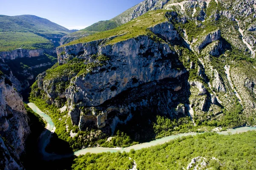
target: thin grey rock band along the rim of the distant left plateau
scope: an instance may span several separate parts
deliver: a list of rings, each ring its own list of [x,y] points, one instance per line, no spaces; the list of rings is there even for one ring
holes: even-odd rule
[[[53,54],[54,50],[44,50],[44,49],[36,49],[36,50],[26,50],[26,49],[16,49],[13,51],[3,51],[0,52],[0,59],[17,59],[24,57],[38,57],[47,54]]]

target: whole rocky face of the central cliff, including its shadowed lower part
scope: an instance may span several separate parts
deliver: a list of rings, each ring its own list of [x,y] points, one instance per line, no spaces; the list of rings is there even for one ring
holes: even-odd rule
[[[168,41],[179,38],[172,24],[167,22],[150,29]],[[44,79],[45,73],[38,77],[38,87],[52,101],[60,94],[51,84],[70,81],[65,98],[74,125],[79,125],[80,130],[96,127],[113,133],[116,125],[125,124],[135,113],[145,113],[145,107],[151,108],[148,112],[157,111],[169,116],[186,114],[184,105],[178,105],[182,96],[186,96],[186,92],[181,94],[187,87],[186,76],[180,78],[186,75],[186,70],[176,69],[179,65],[177,54],[167,43],[156,42],[147,36],[113,45],[104,45],[105,42],[107,40],[97,40],[57,49],[58,62],[62,64],[73,57],[87,63],[97,62],[92,56],[108,58],[104,65],[89,74],[49,80]],[[179,99],[175,97],[177,94]]]

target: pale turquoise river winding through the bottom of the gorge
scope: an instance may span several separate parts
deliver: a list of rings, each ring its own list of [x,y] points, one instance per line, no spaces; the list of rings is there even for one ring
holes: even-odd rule
[[[181,134],[178,134],[178,135],[166,136],[166,137],[163,137],[161,139],[153,140],[151,142],[135,144],[133,146],[126,147],[126,148],[89,147],[89,148],[78,150],[78,151],[76,151],[76,152],[74,152],[73,154],[70,154],[70,155],[50,154],[50,153],[47,153],[45,151],[45,147],[49,143],[51,133],[53,133],[54,130],[55,130],[54,123],[52,122],[52,119],[47,114],[42,112],[34,103],[28,103],[28,105],[33,111],[35,111],[35,113],[38,113],[38,115],[41,116],[48,123],[47,131],[43,132],[41,134],[40,139],[39,139],[40,153],[43,154],[44,159],[46,159],[46,160],[61,159],[61,158],[66,158],[66,157],[70,157],[70,156],[73,156],[73,155],[79,156],[79,155],[84,155],[86,153],[102,153],[102,152],[118,152],[118,151],[129,152],[131,149],[139,150],[139,149],[142,149],[142,148],[145,148],[145,147],[151,147],[151,146],[155,146],[157,144],[163,144],[163,143],[168,142],[168,141],[170,141],[172,139],[175,139],[177,137],[199,134],[199,133],[196,133],[196,132],[181,133]],[[246,131],[249,131],[249,130],[256,130],[256,127],[239,127],[239,128],[236,128],[236,129],[229,129],[227,131],[222,131],[222,132],[217,132],[217,133],[227,135],[227,134],[230,134],[230,133],[235,134],[235,133],[246,132]]]

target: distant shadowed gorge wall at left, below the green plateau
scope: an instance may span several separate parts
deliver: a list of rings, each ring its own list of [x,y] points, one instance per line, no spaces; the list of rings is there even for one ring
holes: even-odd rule
[[[55,64],[57,59],[48,55],[56,55],[55,52],[54,49],[0,52],[0,70],[11,80],[17,91],[26,95],[36,76]]]

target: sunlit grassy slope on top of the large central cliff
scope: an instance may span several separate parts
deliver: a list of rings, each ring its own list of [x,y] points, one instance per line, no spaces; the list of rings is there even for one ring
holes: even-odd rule
[[[72,41],[66,45],[73,45],[81,42],[90,42],[90,41],[112,37],[115,35],[121,35],[119,37],[114,38],[110,42],[108,42],[109,44],[113,44],[119,41],[124,41],[133,37],[137,37],[139,35],[146,35],[148,33],[147,28],[167,21],[165,14],[166,14],[166,10],[150,11],[140,17],[137,17],[134,20],[131,20],[130,22],[122,26],[111,29],[109,31],[99,32],[91,36]],[[66,46],[66,45],[63,45],[63,46]]]

